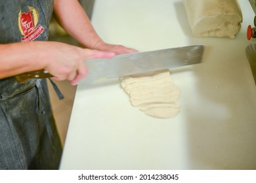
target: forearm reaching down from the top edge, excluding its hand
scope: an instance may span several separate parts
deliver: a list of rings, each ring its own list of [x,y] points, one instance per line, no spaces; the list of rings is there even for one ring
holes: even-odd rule
[[[96,44],[102,42],[77,0],[55,0],[54,14],[68,34],[86,48],[96,49]]]

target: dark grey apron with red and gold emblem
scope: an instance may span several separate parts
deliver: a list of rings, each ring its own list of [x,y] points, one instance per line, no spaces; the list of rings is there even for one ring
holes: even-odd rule
[[[47,41],[52,13],[53,0],[1,0],[0,43]],[[0,169],[58,169],[61,154],[46,80],[1,79]]]

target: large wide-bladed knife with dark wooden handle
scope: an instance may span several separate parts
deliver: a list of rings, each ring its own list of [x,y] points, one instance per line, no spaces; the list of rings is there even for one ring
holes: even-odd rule
[[[119,76],[172,69],[202,61],[203,46],[183,46],[150,52],[117,55],[112,59],[89,59],[85,61],[89,74],[79,83],[92,82]],[[51,77],[45,71],[33,71],[16,76],[20,82],[28,78]]]

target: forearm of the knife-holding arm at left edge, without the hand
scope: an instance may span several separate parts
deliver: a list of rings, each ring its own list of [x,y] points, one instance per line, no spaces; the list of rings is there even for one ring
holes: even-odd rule
[[[34,42],[0,44],[0,78],[43,69],[43,63],[37,61],[43,55],[33,51],[36,47]]]

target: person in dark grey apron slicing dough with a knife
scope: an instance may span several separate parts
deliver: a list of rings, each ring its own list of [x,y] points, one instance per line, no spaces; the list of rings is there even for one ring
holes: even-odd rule
[[[47,42],[53,14],[85,48]],[[62,154],[44,79],[16,75],[45,69],[77,84],[85,59],[136,52],[103,42],[76,0],[0,1],[0,169],[58,169]],[[100,51],[99,51],[100,50]]]

